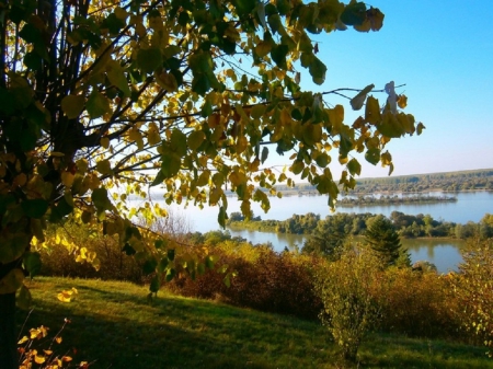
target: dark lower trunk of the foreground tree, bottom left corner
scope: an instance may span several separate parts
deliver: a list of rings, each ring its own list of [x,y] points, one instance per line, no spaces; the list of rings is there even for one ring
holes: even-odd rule
[[[18,369],[15,293],[0,295],[0,369]]]

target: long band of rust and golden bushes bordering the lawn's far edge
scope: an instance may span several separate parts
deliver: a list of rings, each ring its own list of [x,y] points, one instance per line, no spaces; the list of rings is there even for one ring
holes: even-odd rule
[[[66,224],[66,229],[72,232],[76,243],[98,253],[100,270],[96,272],[89,264],[77,263],[73,254],[69,254],[65,246],[48,244],[42,251],[44,275],[135,282],[146,280],[138,257],[136,260],[123,254],[117,240],[92,234],[82,228],[67,227],[71,226]],[[320,280],[314,277],[316,274],[320,275],[322,270],[323,275],[328,264],[342,263],[341,260],[329,262],[320,256],[293,252],[276,253],[270,246],[252,246],[245,240],[231,238],[228,232],[194,233],[184,240],[195,243],[200,250],[206,246],[209,253],[216,255],[216,269],[192,280],[184,269],[177,268],[176,277],[165,284],[165,288],[187,297],[218,299],[234,305],[305,319],[318,319],[326,303],[320,295],[320,288],[318,292],[314,288],[316,280]],[[354,249],[351,251],[354,252]],[[180,264],[179,256],[176,263]],[[370,266],[372,262],[364,261],[364,266],[365,263]],[[354,272],[347,267],[341,270],[348,274]],[[337,273],[341,274],[341,270]],[[347,293],[341,295],[341,286],[334,281],[324,288],[332,288],[341,295],[341,299],[349,297],[348,301],[357,305],[359,298],[351,288],[367,286],[365,291],[369,293],[368,301],[376,304],[376,321],[379,322],[378,325],[368,325],[371,328],[416,337],[460,339],[485,344],[490,348],[493,346],[491,240],[471,244],[465,255],[465,264],[460,267],[461,273],[458,274],[438,275],[433,270],[385,268],[382,265],[371,270],[378,275],[369,284],[362,279],[363,274],[359,277],[357,274],[351,275],[356,280],[348,287]],[[225,284],[225,275],[233,276],[229,278],[229,287]]]

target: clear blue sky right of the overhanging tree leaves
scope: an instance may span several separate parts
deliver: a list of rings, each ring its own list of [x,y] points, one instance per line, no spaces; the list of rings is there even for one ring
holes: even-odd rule
[[[386,15],[375,33],[313,35],[328,66],[325,83],[313,91],[360,88],[389,81],[406,85],[406,113],[426,126],[422,136],[388,145],[392,175],[493,168],[493,3],[470,1],[369,0]],[[376,95],[380,101],[385,94]],[[328,97],[329,103],[343,101]],[[346,123],[357,116],[344,101]],[[272,150],[273,151],[273,150]],[[360,162],[365,160],[363,158]],[[280,158],[275,159],[280,162]],[[331,166],[339,177],[339,165]],[[388,169],[364,164],[362,177],[386,176]]]

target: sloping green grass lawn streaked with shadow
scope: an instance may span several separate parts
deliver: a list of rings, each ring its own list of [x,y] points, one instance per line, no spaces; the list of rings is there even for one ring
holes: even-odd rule
[[[76,287],[76,300],[57,293]],[[36,278],[34,310],[19,312],[24,333],[39,325],[53,336],[64,324],[56,354],[91,368],[340,368],[337,347],[318,322],[262,313],[117,281]],[[48,344],[48,343],[47,343]],[[47,345],[43,346],[44,348]],[[360,347],[360,368],[493,368],[485,348],[375,334]]]

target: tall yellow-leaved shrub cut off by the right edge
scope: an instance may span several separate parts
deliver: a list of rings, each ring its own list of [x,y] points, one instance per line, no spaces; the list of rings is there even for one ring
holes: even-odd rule
[[[462,252],[459,273],[451,274],[452,309],[461,328],[493,357],[493,239],[470,240]]]

